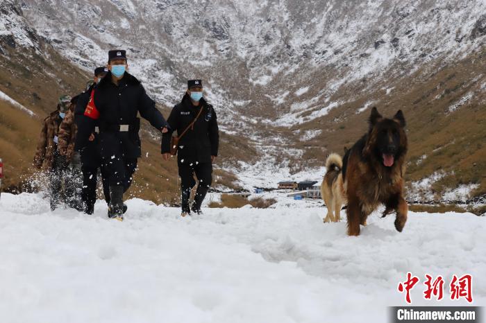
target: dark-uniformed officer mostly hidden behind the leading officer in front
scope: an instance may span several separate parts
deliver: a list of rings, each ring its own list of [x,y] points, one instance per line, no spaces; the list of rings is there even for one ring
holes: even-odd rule
[[[84,115],[87,103],[89,103],[91,95],[96,88],[96,85],[103,79],[108,73],[108,67],[97,67],[94,69],[94,79],[87,82],[86,91],[79,95],[76,103],[76,109],[74,110],[74,122],[78,126],[78,131],[83,130],[84,119],[87,116]],[[76,150],[81,150],[81,171],[83,173],[83,189],[81,190],[81,200],[84,204],[84,212],[92,214],[94,212],[94,203],[97,201],[97,184],[98,184],[98,168],[101,170],[101,181],[103,183],[103,193],[108,205],[110,204],[110,188],[108,185],[108,177],[106,175],[106,169],[101,166],[101,155],[99,149],[99,136],[97,123],[95,130],[88,140],[86,140],[87,134],[78,135],[76,138]],[[83,142],[83,143],[81,143]]]

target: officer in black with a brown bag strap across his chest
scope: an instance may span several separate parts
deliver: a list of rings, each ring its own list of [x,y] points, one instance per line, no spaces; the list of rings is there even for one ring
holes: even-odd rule
[[[194,125],[190,126],[194,120]],[[177,147],[177,164],[182,191],[181,216],[187,216],[191,211],[201,214],[201,204],[212,182],[212,162],[218,155],[219,146],[216,112],[203,98],[201,80],[187,81],[187,91],[182,102],[172,109],[167,122],[170,129],[162,134],[162,156],[165,160],[170,156],[172,132],[177,130],[180,136],[187,129],[178,141]],[[194,173],[199,184],[194,202],[190,207],[191,189],[196,185]]]

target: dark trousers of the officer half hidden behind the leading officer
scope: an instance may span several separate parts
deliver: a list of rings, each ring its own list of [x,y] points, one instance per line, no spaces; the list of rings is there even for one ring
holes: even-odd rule
[[[106,203],[110,204],[110,187],[108,185],[106,169],[103,167],[83,165],[81,168],[81,171],[83,171],[83,190],[81,191],[81,199],[89,206],[92,206],[97,202],[98,169],[101,170],[101,182],[103,184],[103,194],[105,195]]]

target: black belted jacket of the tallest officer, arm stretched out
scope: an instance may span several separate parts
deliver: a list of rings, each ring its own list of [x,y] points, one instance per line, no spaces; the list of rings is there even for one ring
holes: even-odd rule
[[[115,156],[134,159],[142,155],[138,135],[139,112],[142,118],[158,130],[169,127],[156,108],[156,103],[146,95],[142,83],[131,74],[125,73],[119,84],[115,85],[111,80],[111,73],[108,72],[94,90],[94,105],[99,111],[101,155],[104,158]],[[130,125],[130,131],[114,130],[119,125]],[[94,123],[90,123],[90,128],[94,130]]]

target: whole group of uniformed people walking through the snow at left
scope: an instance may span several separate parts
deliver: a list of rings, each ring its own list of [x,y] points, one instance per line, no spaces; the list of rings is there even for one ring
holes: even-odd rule
[[[219,146],[216,112],[203,97],[202,81],[187,81],[181,103],[166,121],[140,81],[127,71],[126,51],[109,51],[107,67],[94,70],[94,80],[87,82],[86,90],[74,98],[61,96],[56,111],[44,119],[34,165],[49,171],[51,209],[63,201],[92,214],[101,171],[108,217],[123,220],[127,211],[123,195],[142,153],[140,114],[162,132],[162,158],[178,156],[181,216],[191,211],[201,214]],[[172,139],[173,132],[178,141]],[[194,173],[199,184],[190,206]]]

